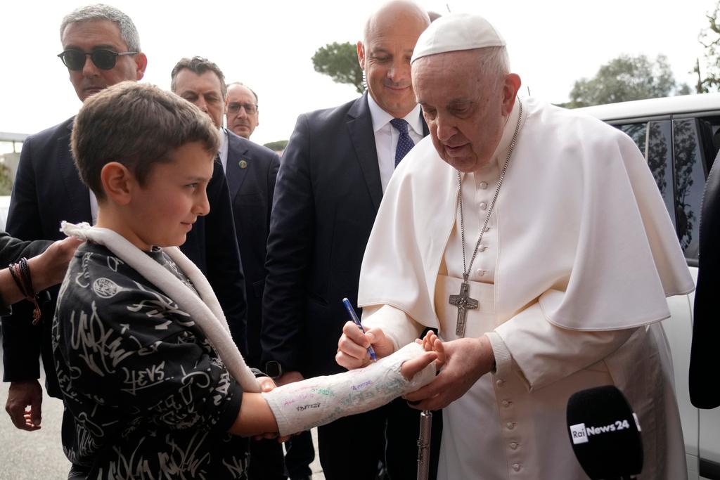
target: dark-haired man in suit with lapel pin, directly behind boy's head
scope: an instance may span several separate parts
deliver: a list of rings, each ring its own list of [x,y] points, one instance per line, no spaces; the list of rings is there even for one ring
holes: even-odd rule
[[[220,132],[220,158],[233,202],[235,231],[248,299],[246,361],[260,366],[261,299],[265,285],[265,249],[279,156],[222,127],[228,89],[220,67],[207,58],[183,58],[171,73],[171,90],[205,112]],[[282,445],[275,440],[251,443],[251,480],[285,479]]]

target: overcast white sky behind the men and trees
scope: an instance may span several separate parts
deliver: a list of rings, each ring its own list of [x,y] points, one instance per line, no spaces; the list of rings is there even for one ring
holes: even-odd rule
[[[35,133],[80,107],[60,53],[60,19],[73,0],[4,0],[0,6],[0,132]],[[153,1],[108,0],[130,15],[148,55],[143,81],[169,89],[170,71],[184,56],[214,61],[230,81],[259,97],[258,143],[289,138],[297,115],[357,96],[352,86],[315,73],[315,50],[356,42],[366,17],[383,2],[343,0]],[[533,96],[567,101],[575,80],[591,77],[621,53],[670,59],[675,78],[703,53],[698,32],[716,0],[420,0],[436,12],[487,17],[508,42],[512,69]]]

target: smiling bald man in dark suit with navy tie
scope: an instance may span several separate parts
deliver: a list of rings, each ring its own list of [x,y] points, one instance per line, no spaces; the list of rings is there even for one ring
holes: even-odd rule
[[[343,370],[335,361],[348,320],[341,299],[356,304],[382,192],[402,155],[428,134],[410,57],[429,22],[415,4],[383,6],[358,42],[366,94],[297,119],[276,182],[263,305],[263,358],[279,384]],[[407,422],[386,430],[401,417]],[[392,479],[414,479],[418,422],[400,401],[319,427],[325,478],[374,479],[382,460]]]

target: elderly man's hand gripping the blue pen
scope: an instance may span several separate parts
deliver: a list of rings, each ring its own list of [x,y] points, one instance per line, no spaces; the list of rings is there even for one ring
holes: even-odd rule
[[[338,365],[348,370],[364,367],[370,363],[370,355],[367,353],[370,345],[377,358],[386,357],[395,351],[395,345],[385,336],[382,328],[371,328],[363,333],[353,322],[347,322],[343,326],[343,335],[338,340],[335,360]]]

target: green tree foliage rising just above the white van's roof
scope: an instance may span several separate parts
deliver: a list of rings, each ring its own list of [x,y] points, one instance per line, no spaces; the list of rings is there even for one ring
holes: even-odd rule
[[[672,93],[688,93],[688,86],[678,86],[665,55],[653,62],[645,55],[620,55],[602,65],[593,78],[580,78],[570,91],[567,107],[589,107],[616,101],[653,99]]]

